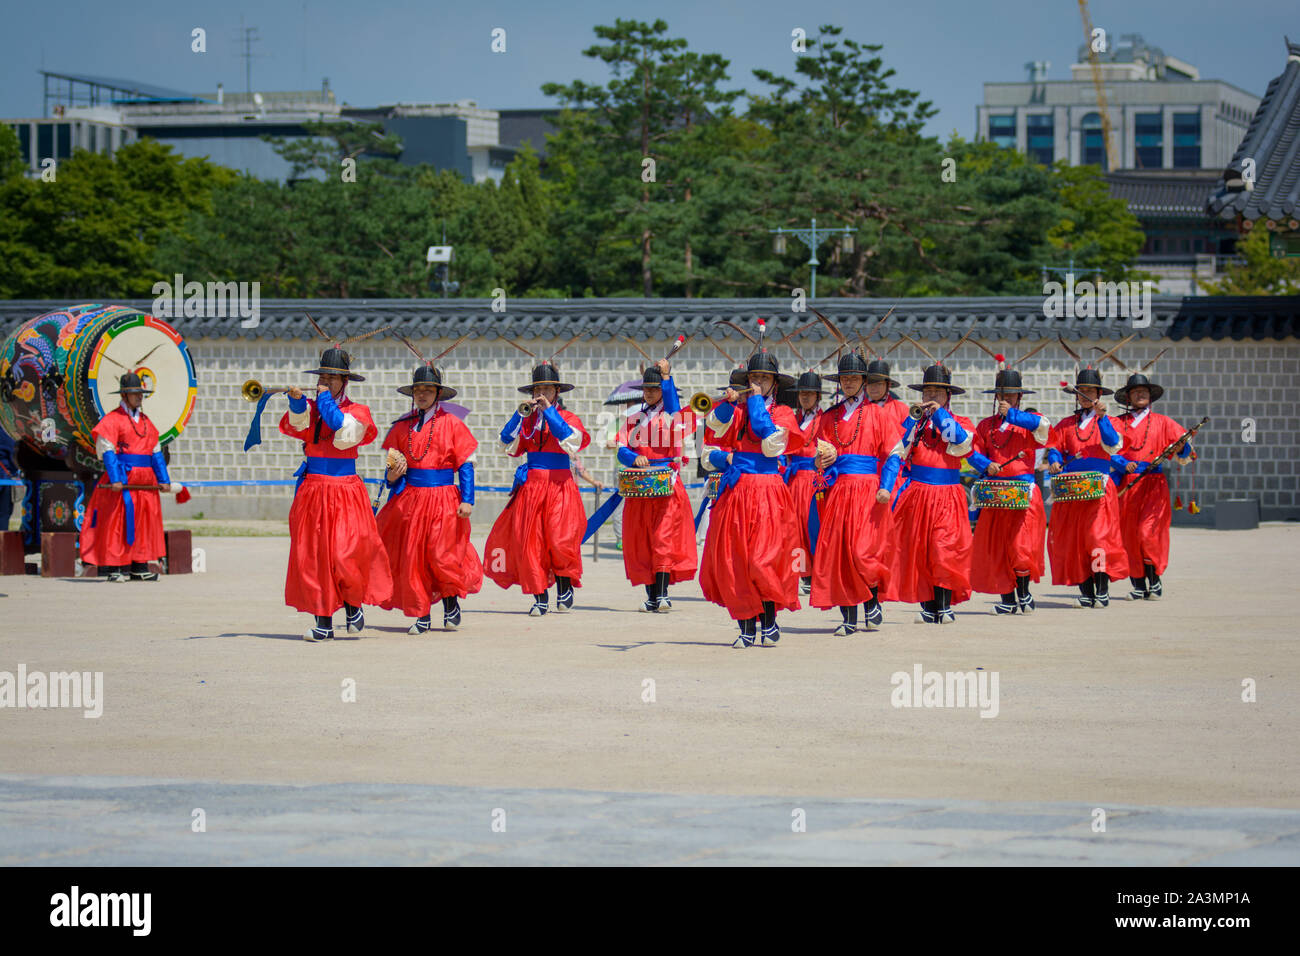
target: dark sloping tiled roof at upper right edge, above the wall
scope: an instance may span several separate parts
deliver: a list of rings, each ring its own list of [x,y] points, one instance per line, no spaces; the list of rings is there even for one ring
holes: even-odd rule
[[[1252,190],[1242,179],[1247,159],[1254,160]],[[1287,40],[1286,69],[1269,82],[1208,208],[1226,220],[1300,219],[1300,43]]]

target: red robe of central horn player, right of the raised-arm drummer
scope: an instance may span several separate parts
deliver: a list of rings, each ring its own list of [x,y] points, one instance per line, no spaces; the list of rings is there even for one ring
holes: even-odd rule
[[[798,425],[794,412],[783,405],[767,407],[772,424],[784,428],[786,441]],[[748,427],[741,405],[720,436],[719,447],[763,455],[775,460],[785,450],[764,454],[762,441]],[[708,536],[699,562],[699,588],[705,600],[722,605],[736,620],[757,618],[763,602],[776,610],[798,610],[800,576],[809,574],[807,555],[800,553],[790,489],[775,471],[741,475],[733,488],[722,492],[708,519]]]

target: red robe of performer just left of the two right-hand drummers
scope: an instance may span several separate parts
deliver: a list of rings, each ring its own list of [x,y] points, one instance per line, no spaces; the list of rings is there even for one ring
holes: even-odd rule
[[[962,458],[970,454],[975,425],[962,415],[953,418],[967,436],[967,447],[959,455],[948,450],[932,420],[916,425],[922,431],[909,462],[910,477],[894,498],[890,601],[931,601],[935,588],[953,592],[950,606],[970,600],[971,522],[966,489],[961,484],[927,484],[918,473],[919,468],[961,470]]]

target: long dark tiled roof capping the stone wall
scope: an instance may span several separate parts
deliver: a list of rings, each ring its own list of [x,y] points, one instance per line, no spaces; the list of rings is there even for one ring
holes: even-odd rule
[[[0,334],[43,312],[70,302],[0,302]],[[151,299],[125,302],[148,311]],[[745,330],[755,330],[758,317],[767,319],[768,339],[780,338],[814,319],[811,312],[794,315],[781,299],[511,299],[504,312],[493,312],[490,299],[263,299],[256,328],[243,329],[238,317],[181,317],[172,324],[187,338],[283,338],[313,337],[303,312],[332,336],[344,338],[393,325],[417,338],[554,339],[580,329],[599,341],[630,336],[638,342],[668,341],[679,332],[741,341],[740,333],[719,319],[729,319]],[[1260,297],[1150,297],[1150,325],[1134,329],[1131,319],[1049,319],[1044,298],[923,298],[923,299],[819,299],[816,307],[845,334],[864,333],[893,307],[889,321],[874,341],[894,341],[906,332],[914,338],[953,339],[974,323],[982,338],[1039,339],[1058,332],[1069,339],[1122,338],[1132,332],[1143,338],[1280,339],[1300,336],[1300,295]],[[807,329],[803,339],[827,339],[820,325]],[[725,347],[725,346],[724,346]],[[732,351],[732,350],[728,350]]]

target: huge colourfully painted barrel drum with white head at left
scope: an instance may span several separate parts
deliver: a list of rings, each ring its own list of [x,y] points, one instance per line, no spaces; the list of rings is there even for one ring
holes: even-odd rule
[[[118,378],[140,376],[161,444],[194,414],[198,380],[179,333],[126,306],[72,306],[23,323],[0,343],[0,427],[47,458],[96,468],[91,429],[121,402]]]

